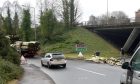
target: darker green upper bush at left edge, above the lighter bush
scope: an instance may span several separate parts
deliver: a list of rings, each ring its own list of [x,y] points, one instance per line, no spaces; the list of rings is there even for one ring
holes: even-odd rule
[[[2,32],[0,32],[0,39],[0,57],[16,65],[20,65],[20,55],[15,49],[10,47],[9,39]]]

